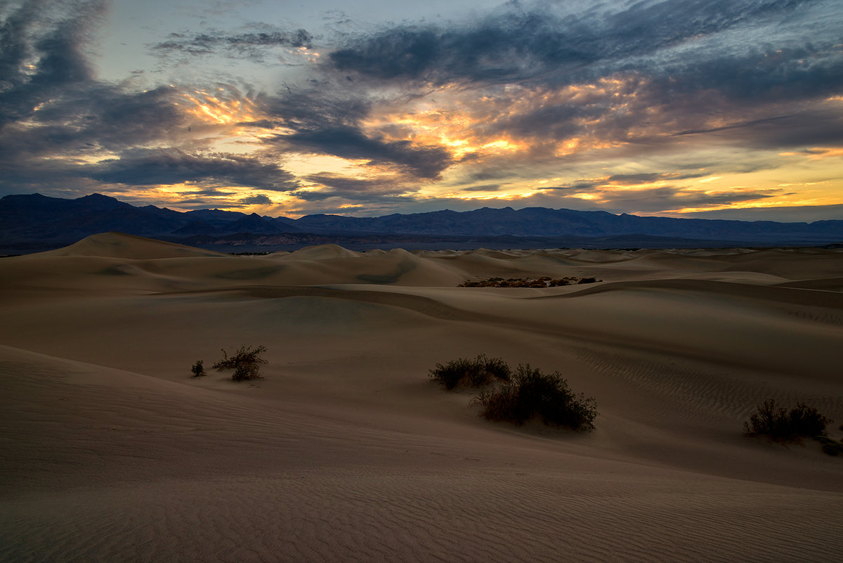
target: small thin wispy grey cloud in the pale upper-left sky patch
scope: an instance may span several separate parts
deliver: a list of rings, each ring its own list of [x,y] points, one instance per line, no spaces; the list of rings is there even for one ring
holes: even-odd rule
[[[266,50],[271,47],[313,48],[313,36],[304,29],[287,31],[262,24],[260,31],[231,34],[212,29],[201,34],[173,33],[167,40],[151,46],[159,55],[222,54],[236,58],[248,58],[263,62]]]

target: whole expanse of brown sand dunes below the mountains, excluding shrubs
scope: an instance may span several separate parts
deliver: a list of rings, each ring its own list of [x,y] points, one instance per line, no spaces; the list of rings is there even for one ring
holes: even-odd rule
[[[456,287],[596,276],[569,287]],[[0,260],[0,560],[840,561],[839,249],[229,256],[127,235]],[[266,376],[191,379],[242,344]],[[596,430],[432,383],[559,370]]]

